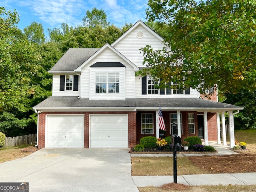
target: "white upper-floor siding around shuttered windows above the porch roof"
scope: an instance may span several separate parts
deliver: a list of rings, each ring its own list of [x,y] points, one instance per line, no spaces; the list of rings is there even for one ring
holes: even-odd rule
[[[135,80],[136,90],[135,90],[135,97],[136,98],[198,98],[198,91],[195,89],[190,88],[190,94],[146,94],[142,95],[142,77],[137,76]]]

